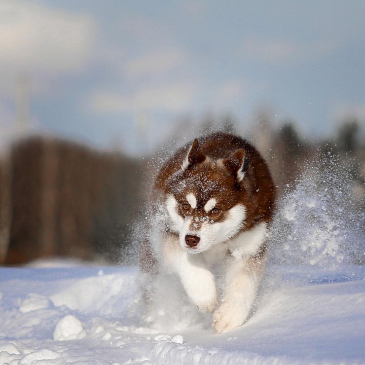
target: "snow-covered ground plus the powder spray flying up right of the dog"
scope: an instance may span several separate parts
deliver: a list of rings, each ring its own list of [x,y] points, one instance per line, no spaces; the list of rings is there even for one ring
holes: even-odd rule
[[[279,202],[255,310],[220,335],[174,277],[147,311],[137,267],[0,268],[0,364],[365,364],[365,218],[348,180],[312,166]]]

